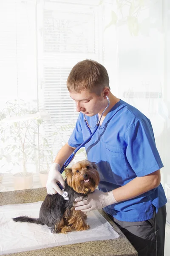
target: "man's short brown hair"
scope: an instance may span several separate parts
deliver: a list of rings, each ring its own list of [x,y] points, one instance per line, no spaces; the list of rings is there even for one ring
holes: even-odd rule
[[[69,92],[80,93],[82,90],[90,90],[100,95],[104,87],[110,88],[108,72],[105,67],[93,60],[78,62],[67,79]]]

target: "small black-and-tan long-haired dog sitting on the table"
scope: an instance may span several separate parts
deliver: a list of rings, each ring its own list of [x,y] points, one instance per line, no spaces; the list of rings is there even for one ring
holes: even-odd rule
[[[75,198],[82,196],[83,199],[89,193],[94,192],[99,184],[97,166],[88,160],[75,163],[71,168],[65,168],[65,191],[68,192],[69,200],[58,193],[47,195],[42,202],[39,218],[20,216],[13,218],[15,222],[30,222],[47,225],[52,233],[66,233],[72,230],[87,230],[85,212],[76,211],[73,206]]]

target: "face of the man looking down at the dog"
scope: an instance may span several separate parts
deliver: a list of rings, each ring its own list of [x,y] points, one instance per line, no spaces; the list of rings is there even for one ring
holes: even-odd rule
[[[94,116],[97,113],[101,114],[105,108],[105,99],[102,96],[91,93],[88,90],[82,91],[81,93],[71,92],[70,96],[77,105],[77,112],[82,112],[87,116]]]

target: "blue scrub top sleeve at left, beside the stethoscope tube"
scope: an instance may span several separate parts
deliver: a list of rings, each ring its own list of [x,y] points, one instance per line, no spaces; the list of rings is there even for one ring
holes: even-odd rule
[[[81,118],[82,118],[82,113],[79,113],[79,117],[76,122],[76,127],[74,128],[68,140],[68,145],[74,148],[77,148],[79,145],[83,143]]]

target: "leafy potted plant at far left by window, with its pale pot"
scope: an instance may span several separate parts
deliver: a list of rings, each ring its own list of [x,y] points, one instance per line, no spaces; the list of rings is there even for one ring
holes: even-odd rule
[[[28,189],[33,186],[33,173],[27,171],[27,164],[34,163],[38,152],[37,134],[41,120],[30,119],[37,113],[30,103],[23,100],[8,101],[0,111],[0,134],[3,154],[0,159],[20,171],[14,174],[14,189]]]

